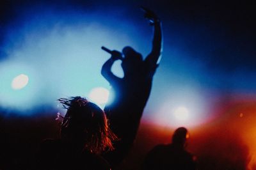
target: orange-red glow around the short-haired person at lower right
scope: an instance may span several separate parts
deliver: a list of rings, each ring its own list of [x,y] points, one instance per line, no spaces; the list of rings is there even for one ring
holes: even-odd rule
[[[192,121],[195,123],[193,127],[190,126],[191,120],[184,125],[189,130],[187,149],[195,154],[200,168],[209,169],[215,164],[216,169],[256,169],[256,95],[224,98],[214,109],[205,109],[208,111],[211,119],[200,120],[198,124]],[[160,124],[156,120],[147,123],[147,133],[140,134],[144,137],[147,134],[141,146],[150,141],[151,148],[159,143],[170,143],[173,131],[178,128],[171,121],[169,124]]]

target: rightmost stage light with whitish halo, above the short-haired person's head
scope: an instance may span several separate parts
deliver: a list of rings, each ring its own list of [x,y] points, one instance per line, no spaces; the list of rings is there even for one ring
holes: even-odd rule
[[[180,88],[166,95],[166,99],[159,106],[157,114],[148,119],[157,125],[165,127],[196,127],[214,118],[211,105],[206,101],[211,101],[204,95],[203,91],[195,88]]]

